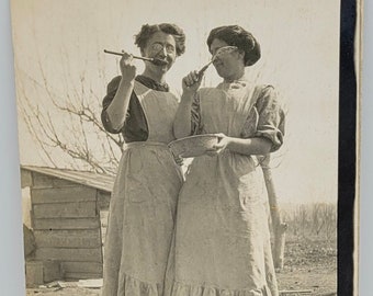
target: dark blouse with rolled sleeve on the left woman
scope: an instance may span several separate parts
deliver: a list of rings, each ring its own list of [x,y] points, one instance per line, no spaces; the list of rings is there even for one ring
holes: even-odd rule
[[[102,124],[109,133],[112,133],[112,134],[122,133],[124,140],[126,143],[145,141],[148,139],[148,136],[149,136],[148,124],[147,124],[142,104],[138,101],[138,98],[134,91],[131,94],[128,110],[127,110],[124,125],[121,128],[115,129],[113,128],[113,125],[110,122],[106,110],[115,96],[121,79],[122,77],[117,76],[113,78],[112,81],[110,81],[108,84],[106,95],[103,98],[103,101],[102,101],[102,107],[103,107],[101,112]],[[160,84],[157,81],[145,76],[137,76],[135,80],[152,90],[165,91],[165,92],[169,91],[169,87],[167,84]]]

